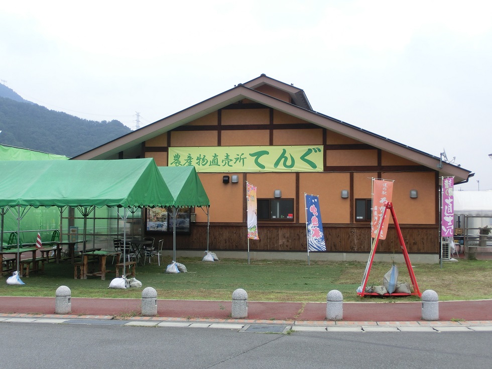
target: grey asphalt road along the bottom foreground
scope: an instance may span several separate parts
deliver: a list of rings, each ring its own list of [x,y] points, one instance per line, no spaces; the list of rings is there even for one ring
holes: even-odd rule
[[[489,368],[492,332],[246,333],[0,323],[6,368]]]

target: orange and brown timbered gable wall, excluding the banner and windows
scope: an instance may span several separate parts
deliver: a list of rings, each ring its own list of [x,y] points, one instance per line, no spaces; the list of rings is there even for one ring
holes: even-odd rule
[[[371,178],[384,178],[395,180],[393,203],[402,230],[411,235],[408,241],[416,248],[413,252],[437,252],[435,237],[430,235],[438,227],[435,172],[283,112],[254,103],[243,103],[243,108],[238,105],[207,114],[147,141],[145,156],[154,157],[161,166],[167,164],[168,145],[323,145],[324,170],[320,173],[199,173],[210,198],[211,227],[220,229],[212,249],[243,248],[245,181],[248,181],[258,187],[258,198],[273,198],[274,190],[281,189],[282,198],[294,199],[295,205],[294,221],[260,222],[259,228],[268,232],[268,236],[255,241],[257,250],[305,250],[304,193],[312,193],[320,198],[321,216],[329,235],[327,250],[367,251],[371,243],[370,223],[355,222],[355,199],[370,199]],[[223,184],[224,174],[239,175],[239,182]],[[348,199],[340,197],[344,189],[349,190]],[[419,191],[417,199],[410,199],[410,189]],[[197,224],[206,222],[202,211],[197,210],[196,216]],[[380,243],[379,251],[392,252],[395,247],[397,237],[391,227],[389,234],[388,240]],[[192,242],[190,247],[194,247]]]

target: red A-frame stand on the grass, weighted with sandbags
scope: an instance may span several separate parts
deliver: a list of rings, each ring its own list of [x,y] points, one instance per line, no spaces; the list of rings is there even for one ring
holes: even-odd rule
[[[395,214],[395,209],[393,207],[393,203],[387,202],[384,205],[384,208],[385,208],[385,210],[383,211],[383,215],[382,215],[382,217],[380,219],[380,223],[379,223],[379,227],[378,227],[378,235],[376,236],[376,238],[373,241],[373,245],[372,245],[372,248],[371,248],[371,254],[369,256],[369,260],[367,261],[367,266],[365,267],[364,277],[362,278],[362,286],[361,286],[362,287],[362,291],[361,292],[357,292],[357,295],[359,295],[359,296],[366,296],[366,295],[373,295],[373,296],[410,296],[410,295],[416,295],[416,296],[422,297],[422,293],[419,290],[419,285],[417,284],[417,279],[415,278],[415,274],[413,272],[412,264],[410,263],[410,258],[408,257],[407,248],[405,246],[405,241],[403,240],[402,231],[400,229],[400,224],[398,224],[398,219],[396,218],[396,214]],[[381,232],[381,225],[383,224],[383,222],[385,220],[386,212],[387,212],[388,209],[390,209],[390,211],[391,211],[391,216],[393,217],[393,223],[395,224],[395,228],[396,228],[396,231],[397,231],[397,234],[398,234],[398,239],[400,241],[400,246],[401,246],[402,251],[403,251],[403,257],[405,258],[405,263],[407,264],[408,274],[410,275],[410,281],[412,282],[412,286],[413,286],[413,290],[414,290],[413,293],[392,293],[392,294],[386,293],[384,295],[380,295],[380,294],[378,294],[376,292],[370,292],[370,293],[365,292],[365,286],[367,284],[367,279],[369,277],[369,273],[371,272],[371,267],[373,265],[374,255],[376,254],[376,249],[378,248],[378,241],[379,241],[380,232]]]

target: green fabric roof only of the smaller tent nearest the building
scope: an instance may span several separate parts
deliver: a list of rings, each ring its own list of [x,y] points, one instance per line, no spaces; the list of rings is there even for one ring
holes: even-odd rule
[[[175,206],[210,206],[194,166],[159,167],[159,172],[173,195]]]

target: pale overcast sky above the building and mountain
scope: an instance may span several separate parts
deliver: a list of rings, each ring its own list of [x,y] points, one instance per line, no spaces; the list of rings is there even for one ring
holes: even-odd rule
[[[170,3],[170,4],[167,4]],[[136,128],[265,73],[314,110],[492,189],[488,1],[0,3],[0,79],[27,100]],[[479,181],[479,182],[478,182]]]

